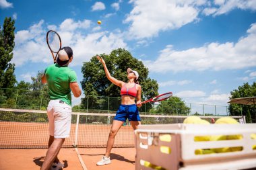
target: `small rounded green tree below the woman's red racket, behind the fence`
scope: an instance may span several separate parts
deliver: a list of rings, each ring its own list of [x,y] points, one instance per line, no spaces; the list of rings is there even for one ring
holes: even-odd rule
[[[176,96],[172,96],[169,99],[162,101],[155,110],[156,113],[162,113],[164,115],[188,115],[190,108],[185,105],[185,102]]]

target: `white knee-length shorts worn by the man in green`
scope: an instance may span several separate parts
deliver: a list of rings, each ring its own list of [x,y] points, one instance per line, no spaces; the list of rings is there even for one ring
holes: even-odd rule
[[[49,132],[55,138],[68,138],[72,108],[60,99],[51,100],[47,107]]]

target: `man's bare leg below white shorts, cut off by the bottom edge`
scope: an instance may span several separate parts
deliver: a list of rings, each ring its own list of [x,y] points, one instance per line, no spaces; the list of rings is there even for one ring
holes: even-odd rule
[[[61,150],[61,146],[62,146],[64,140],[65,140],[65,138],[54,138],[51,146],[49,147],[49,149],[46,153],[44,163],[42,164],[42,167],[40,170],[48,170],[51,167],[53,161],[55,161],[59,151]]]

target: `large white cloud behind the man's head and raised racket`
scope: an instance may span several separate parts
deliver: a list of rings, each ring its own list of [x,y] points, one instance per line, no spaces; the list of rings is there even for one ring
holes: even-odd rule
[[[15,48],[11,62],[14,62],[16,67],[21,67],[26,62],[53,62],[53,57],[45,42],[45,35],[49,28],[55,28],[59,33],[63,46],[73,48],[72,66],[82,65],[82,62],[90,60],[96,54],[109,54],[116,48],[127,49],[123,35],[118,30],[113,33],[93,32],[88,34],[82,30],[82,28],[90,28],[88,23],[90,21],[86,19],[83,22],[65,19],[59,26],[45,26],[44,21],[41,20],[28,30],[18,31],[15,34]],[[69,24],[73,26],[68,28]]]

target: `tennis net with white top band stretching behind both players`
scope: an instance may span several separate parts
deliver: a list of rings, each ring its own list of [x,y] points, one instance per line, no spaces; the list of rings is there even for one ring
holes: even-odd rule
[[[140,115],[141,124],[183,123],[188,116]],[[106,147],[115,114],[73,112],[70,137],[63,147]],[[210,121],[223,116],[199,116]],[[233,116],[236,120],[241,116]],[[0,148],[48,148],[49,130],[46,111],[0,108]],[[113,147],[133,147],[134,134],[125,122]]]

